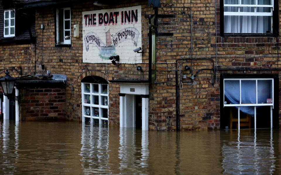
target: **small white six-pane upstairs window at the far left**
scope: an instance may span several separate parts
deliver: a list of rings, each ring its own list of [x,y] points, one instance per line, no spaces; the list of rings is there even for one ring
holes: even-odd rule
[[[4,37],[15,36],[15,10],[4,10]]]

